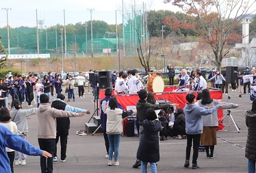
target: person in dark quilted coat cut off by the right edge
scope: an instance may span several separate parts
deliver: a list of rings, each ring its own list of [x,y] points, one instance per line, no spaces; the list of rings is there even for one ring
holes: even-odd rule
[[[248,172],[255,172],[256,162],[256,99],[253,100],[251,110],[245,111],[248,136],[245,149],[245,157],[248,159]]]

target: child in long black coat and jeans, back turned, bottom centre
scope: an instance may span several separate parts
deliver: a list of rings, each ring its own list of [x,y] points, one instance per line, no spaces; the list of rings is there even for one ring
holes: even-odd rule
[[[156,162],[159,161],[159,135],[162,125],[157,119],[155,110],[146,110],[146,120],[142,122],[144,134],[140,140],[137,158],[141,161],[141,172],[146,172],[148,162],[150,163],[151,173],[157,172]]]

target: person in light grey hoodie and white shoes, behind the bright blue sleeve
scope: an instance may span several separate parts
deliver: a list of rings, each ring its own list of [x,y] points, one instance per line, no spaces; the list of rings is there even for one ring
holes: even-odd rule
[[[37,108],[21,109],[21,102],[18,99],[14,100],[14,108],[15,109],[10,112],[12,121],[16,123],[18,127],[18,131],[21,131],[21,134],[19,136],[21,136],[21,138],[23,138],[24,140],[27,140],[28,139],[27,134],[29,132],[28,125],[27,125],[27,116],[36,114]],[[27,158],[27,155],[25,155],[24,153],[21,153],[21,161],[20,161],[19,152],[15,151],[14,164],[16,166],[20,164],[22,166],[25,166],[26,158]]]

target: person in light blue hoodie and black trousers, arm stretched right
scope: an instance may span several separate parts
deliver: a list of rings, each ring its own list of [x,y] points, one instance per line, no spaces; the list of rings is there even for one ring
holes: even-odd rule
[[[197,169],[197,158],[199,157],[199,145],[201,139],[201,133],[203,133],[203,120],[201,116],[212,114],[220,106],[225,106],[225,104],[217,104],[212,107],[199,107],[196,106],[195,96],[193,93],[189,93],[185,99],[188,101],[188,104],[185,104],[184,113],[185,113],[185,133],[187,133],[187,148],[185,151],[185,164],[184,167],[188,168],[190,166],[190,151],[193,141],[193,160],[192,160],[192,169]]]

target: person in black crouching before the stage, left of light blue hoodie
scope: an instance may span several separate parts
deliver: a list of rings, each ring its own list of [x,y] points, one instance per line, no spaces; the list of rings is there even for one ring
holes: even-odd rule
[[[182,108],[177,109],[173,129],[178,135],[185,135],[185,114]]]

